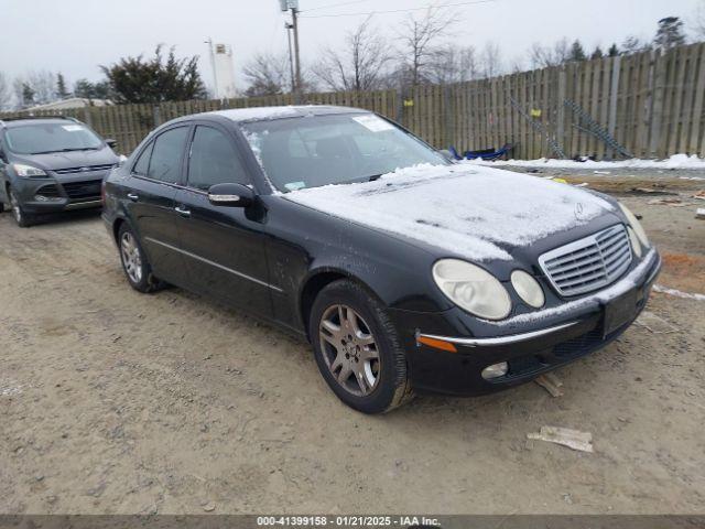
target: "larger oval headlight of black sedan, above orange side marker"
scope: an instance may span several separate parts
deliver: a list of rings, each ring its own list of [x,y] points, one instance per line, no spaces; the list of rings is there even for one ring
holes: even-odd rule
[[[433,266],[433,279],[456,305],[486,320],[503,320],[511,311],[507,289],[491,273],[458,259]]]

